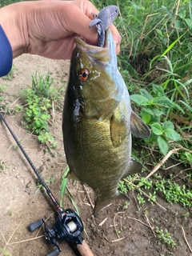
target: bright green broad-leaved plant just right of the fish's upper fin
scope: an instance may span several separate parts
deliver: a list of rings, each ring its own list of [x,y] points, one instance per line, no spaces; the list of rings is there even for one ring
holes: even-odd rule
[[[170,141],[178,142],[182,137],[174,130],[174,124],[171,121],[162,121],[166,118],[166,111],[173,110],[174,107],[180,110],[180,107],[171,102],[169,98],[163,94],[161,90],[160,96],[156,96],[157,86],[153,86],[154,97],[149,94],[145,89],[140,90],[141,94],[133,94],[130,96],[137,104],[143,106],[141,117],[146,124],[151,127],[152,134],[146,142],[150,145],[157,145],[162,154],[166,155],[170,150]]]

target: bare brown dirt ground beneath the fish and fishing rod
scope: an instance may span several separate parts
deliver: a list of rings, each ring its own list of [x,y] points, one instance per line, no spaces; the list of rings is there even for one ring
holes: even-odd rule
[[[69,62],[47,60],[37,56],[23,55],[14,60],[14,78],[12,81],[0,78],[0,86],[6,84],[8,87],[5,94],[6,102],[10,107],[18,104],[18,91],[25,89],[30,84],[30,75],[38,69],[41,74],[49,70],[54,78],[54,85],[61,86],[67,81]],[[64,96],[64,95],[63,95]],[[15,102],[16,101],[16,102]],[[56,115],[54,125],[50,128],[55,142],[58,143],[56,157],[46,152],[45,147],[38,144],[36,136],[27,134],[22,126],[22,113],[6,116],[12,130],[22,139],[22,146],[29,154],[34,166],[40,171],[42,177],[48,182],[50,190],[55,198],[59,198],[59,188],[63,171],[66,167],[66,158],[62,143],[62,111]],[[54,207],[49,198],[38,190],[36,178],[30,166],[26,163],[20,150],[17,149],[14,139],[6,126],[0,122],[0,256],[44,256],[54,246],[46,242],[43,230],[38,233],[30,233],[28,226],[38,218],[48,218],[50,226],[53,224],[53,216],[50,216]],[[173,167],[169,172],[177,173],[178,167]],[[162,172],[162,170],[160,170]],[[162,173],[161,173],[162,174]],[[50,182],[54,178],[53,182]],[[152,205],[147,202],[138,206],[136,195],[130,192],[130,205],[124,209],[125,202],[114,202],[102,210],[97,218],[93,217],[86,190],[94,202],[94,193],[89,187],[85,188],[80,183],[73,185],[68,183],[71,194],[78,203],[81,218],[86,233],[82,236],[86,239],[94,256],[121,255],[121,256],[190,256],[189,246],[192,247],[192,211],[178,205],[171,205],[157,196],[158,203]],[[72,208],[68,196],[66,196],[65,208]],[[186,214],[187,213],[187,214]],[[187,217],[186,217],[187,216]],[[159,242],[154,227],[167,229],[171,234],[176,246],[167,247]],[[118,231],[118,235],[117,232]],[[62,253],[60,255],[74,256],[75,253],[67,242],[60,241]],[[2,251],[4,250],[4,251]]]

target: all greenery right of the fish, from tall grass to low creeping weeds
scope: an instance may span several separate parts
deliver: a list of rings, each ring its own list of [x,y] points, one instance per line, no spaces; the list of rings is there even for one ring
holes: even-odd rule
[[[115,20],[122,35],[118,66],[130,91],[132,107],[151,129],[149,139],[134,138],[133,156],[138,161],[156,165],[170,150],[177,149],[172,159],[190,170],[179,184],[171,178],[158,180],[130,177],[119,184],[122,193],[140,186],[151,190],[151,196],[162,190],[168,202],[191,206],[192,167],[192,17],[190,1],[93,0],[95,6],[117,5]],[[139,144],[138,144],[139,143]],[[141,146],[142,143],[142,146]],[[139,147],[138,147],[139,146]],[[143,150],[143,148],[145,150]],[[139,150],[138,152],[138,148]],[[178,150],[179,149],[179,150]],[[149,154],[147,154],[149,150]],[[152,153],[152,154],[151,154]],[[168,158],[168,157],[167,157]],[[182,168],[184,170],[184,168]],[[128,182],[127,182],[128,181]],[[147,182],[150,182],[146,185]],[[159,182],[162,182],[161,185]],[[187,199],[186,199],[187,198]],[[138,199],[142,199],[138,191]]]

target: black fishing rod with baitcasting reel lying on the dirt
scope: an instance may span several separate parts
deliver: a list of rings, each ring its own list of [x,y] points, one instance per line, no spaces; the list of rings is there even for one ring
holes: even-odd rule
[[[41,174],[39,174],[38,170],[35,168],[28,154],[26,154],[26,151],[22,147],[22,144],[18,141],[18,138],[15,136],[13,130],[10,129],[10,126],[6,122],[6,119],[1,112],[0,117],[5,123],[7,129],[10,131],[10,134],[13,136],[15,142],[17,142],[18,147],[20,148],[20,150],[22,150],[22,154],[25,156],[32,170],[34,170],[34,174],[36,174],[36,176],[38,177],[39,182],[41,182],[42,186],[45,188],[46,193],[50,197],[50,200],[53,202],[58,214],[56,222],[52,229],[50,229],[50,226],[46,224],[43,219],[38,219],[36,222],[31,223],[29,226],[30,232],[34,232],[34,230],[44,224],[46,240],[48,240],[57,247],[49,254],[46,254],[46,256],[58,256],[58,254],[60,254],[61,249],[58,246],[58,242],[55,240],[55,238],[63,239],[67,242],[74,242],[74,244],[76,244],[77,246],[78,252],[82,256],[94,256],[94,254],[90,250],[90,247],[81,236],[81,233],[84,229],[81,218],[74,210],[70,208],[64,210],[61,206],[59,206],[57,200],[54,198],[54,195],[51,193],[49,187],[46,185],[46,182],[43,180]]]

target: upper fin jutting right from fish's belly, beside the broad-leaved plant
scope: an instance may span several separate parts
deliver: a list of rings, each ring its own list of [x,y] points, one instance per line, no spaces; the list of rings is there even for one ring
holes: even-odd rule
[[[131,111],[130,115],[130,130],[137,138],[149,138],[150,137],[150,128],[142,121],[142,118],[139,118],[134,111]]]

